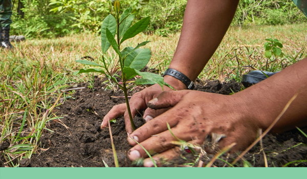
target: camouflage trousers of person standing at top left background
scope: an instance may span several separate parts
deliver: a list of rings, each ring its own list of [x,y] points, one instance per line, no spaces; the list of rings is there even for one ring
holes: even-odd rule
[[[12,24],[12,0],[0,0],[0,27]]]

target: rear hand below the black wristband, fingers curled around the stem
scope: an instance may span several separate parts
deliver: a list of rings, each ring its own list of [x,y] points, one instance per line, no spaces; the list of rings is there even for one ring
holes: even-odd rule
[[[171,76],[165,76],[164,81],[170,84],[173,88],[177,90],[186,89],[186,86],[181,81]],[[164,88],[164,91],[172,91],[172,89],[167,86],[164,86],[163,88]],[[132,117],[134,118],[139,113],[139,111],[146,109],[147,108],[146,103],[152,100],[153,98],[156,98],[157,96],[159,96],[160,93],[162,92],[163,91],[162,91],[161,86],[159,84],[154,84],[150,87],[143,89],[143,91],[134,94],[129,101]],[[151,119],[164,113],[166,110],[167,109],[153,110],[153,109],[147,108],[144,112],[143,118],[145,119],[146,122],[148,122]],[[129,134],[132,133],[133,129],[131,127],[126,103],[113,106],[113,108],[107,113],[107,115],[104,116],[103,121],[101,123],[101,128],[108,126],[108,120],[118,118],[119,116],[124,116],[125,124],[126,124],[126,131]]]

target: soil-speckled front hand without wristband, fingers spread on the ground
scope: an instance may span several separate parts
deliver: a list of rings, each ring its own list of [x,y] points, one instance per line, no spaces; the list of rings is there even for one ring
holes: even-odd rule
[[[159,165],[160,158],[172,159],[180,155],[176,141],[168,131],[167,123],[174,136],[190,143],[203,144],[207,135],[213,132],[226,135],[218,142],[219,148],[236,143],[231,151],[243,150],[257,136],[260,120],[250,111],[249,105],[237,94],[227,96],[198,91],[163,92],[147,103],[152,109],[172,107],[164,114],[150,120],[128,136],[130,160],[147,158],[146,152],[131,138],[139,142],[147,151],[159,154],[152,156]],[[145,167],[153,166],[149,158],[144,160]]]

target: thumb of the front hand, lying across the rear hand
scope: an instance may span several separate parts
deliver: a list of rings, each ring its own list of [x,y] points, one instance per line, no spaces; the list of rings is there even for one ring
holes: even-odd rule
[[[150,100],[147,103],[147,106],[152,109],[173,107],[181,100],[184,95],[189,92],[189,90],[165,91],[162,92],[157,98]]]

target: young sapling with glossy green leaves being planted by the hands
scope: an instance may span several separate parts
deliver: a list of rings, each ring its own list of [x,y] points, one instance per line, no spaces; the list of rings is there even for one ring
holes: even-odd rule
[[[146,64],[149,62],[151,58],[151,51],[149,49],[140,49],[140,47],[145,46],[145,44],[147,44],[149,41],[141,42],[135,48],[134,47],[121,48],[121,44],[125,40],[135,37],[137,34],[141,33],[147,28],[147,26],[149,25],[150,17],[145,17],[131,26],[135,18],[135,14],[133,13],[132,8],[129,7],[120,14],[119,1],[112,1],[112,5],[115,17],[112,14],[109,14],[104,18],[101,26],[101,50],[102,50],[101,61],[103,62],[104,65],[100,65],[98,63],[87,60],[76,60],[77,62],[85,65],[94,65],[100,67],[99,69],[98,68],[86,69],[86,70],[81,69],[77,74],[97,72],[97,73],[102,73],[107,78],[112,79],[124,92],[131,126],[133,130],[135,130],[136,127],[131,115],[130,106],[128,102],[128,95],[127,95],[127,90],[130,87],[127,87],[126,83],[135,83],[135,84],[158,83],[162,87],[162,89],[163,85],[166,86],[169,85],[165,83],[163,81],[163,77],[161,77],[158,74],[140,72],[140,70],[142,70],[146,66]],[[122,84],[120,84],[117,81],[117,79],[114,78],[114,76],[109,72],[108,66],[106,65],[106,59],[104,54],[111,46],[119,57],[120,69],[122,71],[122,75],[119,77],[122,80]],[[101,68],[104,68],[104,70]],[[136,80],[129,80],[133,79],[135,76],[139,76],[142,78],[138,78]]]

